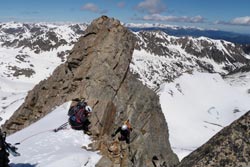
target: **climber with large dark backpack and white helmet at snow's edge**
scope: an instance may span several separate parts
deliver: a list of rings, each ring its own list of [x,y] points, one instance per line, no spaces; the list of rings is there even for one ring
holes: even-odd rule
[[[68,111],[69,124],[72,129],[83,130],[85,134],[91,135],[89,131],[92,108],[87,105],[85,99],[79,101],[76,105],[70,107]]]

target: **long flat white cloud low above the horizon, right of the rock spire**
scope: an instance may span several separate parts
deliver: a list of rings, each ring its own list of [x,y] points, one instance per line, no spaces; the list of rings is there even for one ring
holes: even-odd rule
[[[204,18],[202,16],[163,16],[160,14],[152,14],[146,15],[142,18],[142,20],[146,21],[170,21],[170,22],[188,22],[188,23],[201,23],[204,22]]]

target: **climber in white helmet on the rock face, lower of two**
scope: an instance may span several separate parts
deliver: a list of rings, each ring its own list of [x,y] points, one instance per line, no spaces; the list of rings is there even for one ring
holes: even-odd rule
[[[120,136],[118,137],[119,141],[126,141],[127,144],[130,143],[130,132],[132,131],[131,124],[129,120],[125,121],[122,126],[118,127],[115,133],[111,136],[115,137],[117,133],[120,132]]]

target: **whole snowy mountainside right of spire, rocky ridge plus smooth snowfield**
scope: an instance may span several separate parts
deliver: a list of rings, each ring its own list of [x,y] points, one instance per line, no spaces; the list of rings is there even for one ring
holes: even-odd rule
[[[131,70],[159,93],[170,144],[180,159],[250,110],[250,73],[222,77],[249,63],[239,46],[161,31],[135,35]]]

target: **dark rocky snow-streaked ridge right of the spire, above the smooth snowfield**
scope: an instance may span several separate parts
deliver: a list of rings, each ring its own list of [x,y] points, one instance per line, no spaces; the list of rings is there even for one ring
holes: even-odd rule
[[[226,75],[250,62],[240,45],[224,40],[175,37],[162,31],[134,34],[137,43],[131,69],[151,88],[194,69]]]

